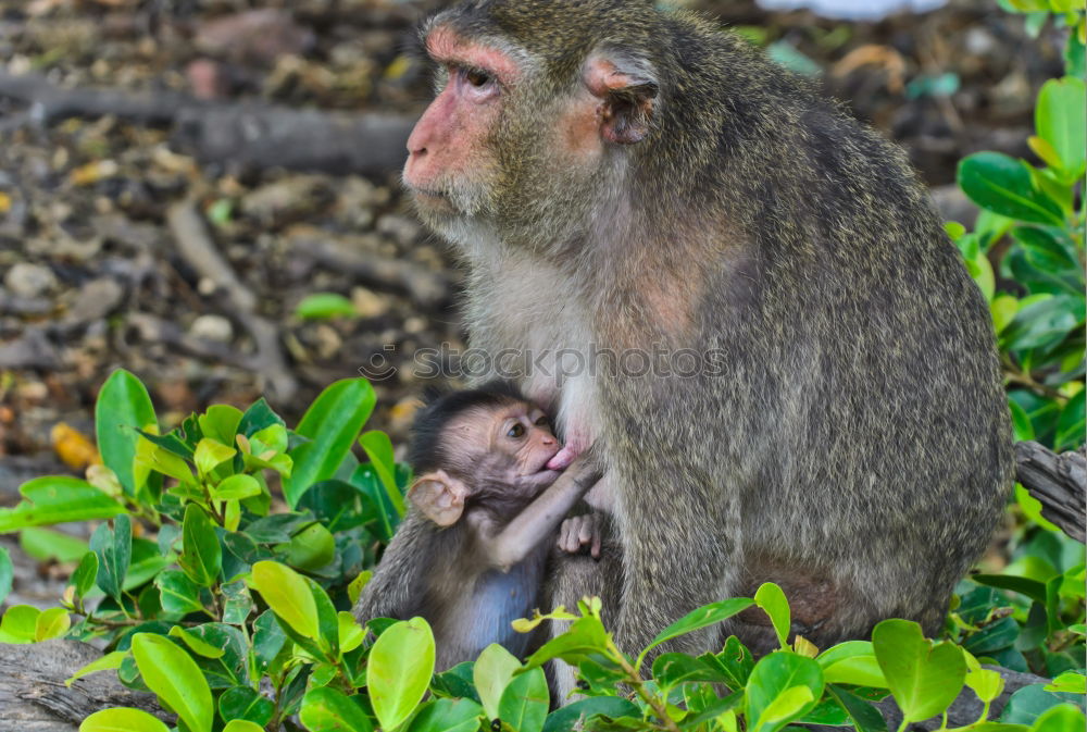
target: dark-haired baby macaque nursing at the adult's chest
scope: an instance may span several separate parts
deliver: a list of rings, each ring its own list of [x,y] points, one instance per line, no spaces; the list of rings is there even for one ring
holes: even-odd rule
[[[549,467],[561,448],[542,410],[505,382],[427,405],[409,448],[411,506],[355,617],[426,618],[442,670],[491,643],[524,656],[532,638],[510,622],[537,607],[551,547],[600,553],[592,519],[559,532],[601,475],[588,455]]]

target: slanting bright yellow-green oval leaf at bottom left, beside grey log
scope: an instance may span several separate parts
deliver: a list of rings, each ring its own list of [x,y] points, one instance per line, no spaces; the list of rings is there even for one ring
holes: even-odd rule
[[[136,633],[133,658],[143,683],[177,712],[189,732],[211,732],[215,707],[192,657],[162,635]]]

